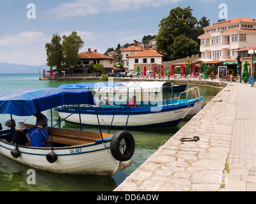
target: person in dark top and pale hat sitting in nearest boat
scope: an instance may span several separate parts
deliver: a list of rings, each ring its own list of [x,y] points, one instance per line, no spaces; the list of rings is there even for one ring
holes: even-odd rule
[[[24,124],[24,122],[18,122],[17,127],[15,128],[14,136],[12,137],[13,144],[17,143],[17,145],[24,146],[29,145],[28,138],[25,132],[26,129],[28,129],[28,127],[26,126],[26,124]]]

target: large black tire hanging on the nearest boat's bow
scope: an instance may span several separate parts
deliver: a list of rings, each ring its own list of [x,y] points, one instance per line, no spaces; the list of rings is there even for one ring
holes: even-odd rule
[[[125,146],[122,142],[125,142]],[[116,132],[110,142],[110,150],[112,156],[118,161],[131,159],[135,150],[135,142],[131,133],[127,131]]]

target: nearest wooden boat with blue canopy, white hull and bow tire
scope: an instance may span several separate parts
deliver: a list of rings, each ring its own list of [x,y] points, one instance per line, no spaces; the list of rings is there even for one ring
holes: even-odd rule
[[[23,90],[0,96],[0,113],[29,116],[66,104],[95,104],[92,92],[85,90]],[[78,110],[79,111],[79,110]],[[32,125],[27,124],[30,128]],[[56,126],[56,125],[55,125]],[[11,143],[13,129],[0,131],[0,152],[19,163],[58,173],[114,175],[129,166],[134,138],[127,131],[115,135],[48,128],[51,147],[28,147]]]

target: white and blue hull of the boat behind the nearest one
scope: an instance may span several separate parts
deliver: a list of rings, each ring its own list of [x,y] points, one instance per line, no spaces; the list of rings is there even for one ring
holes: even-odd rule
[[[186,108],[180,108],[177,110],[170,110],[170,111],[156,111],[154,110],[154,107],[152,107],[152,111],[150,113],[141,113],[138,111],[138,113],[133,113],[129,115],[129,119],[127,122],[128,114],[125,112],[124,114],[116,114],[114,119],[113,115],[115,113],[115,110],[108,112],[108,113],[102,113],[98,111],[99,116],[99,122],[101,126],[110,126],[112,119],[113,119],[113,126],[122,126],[124,127],[127,122],[127,127],[147,127],[147,126],[177,126],[179,124],[180,120],[184,119],[184,117],[188,114],[188,112],[191,110],[193,105],[188,105]],[[159,108],[156,107],[156,108]],[[104,108],[102,109],[104,110]],[[58,113],[61,119],[65,119],[70,115],[70,112],[67,110],[59,110]],[[102,114],[101,114],[102,113]],[[73,115],[70,115],[67,119],[68,122],[74,122],[79,123],[79,113],[74,113]],[[95,115],[95,112],[92,111],[81,111],[81,123],[86,125],[92,125],[97,126],[98,120],[97,116]]]

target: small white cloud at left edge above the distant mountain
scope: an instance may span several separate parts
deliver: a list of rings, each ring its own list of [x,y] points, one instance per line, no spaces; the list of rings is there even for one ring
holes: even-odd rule
[[[42,41],[44,33],[28,31],[13,35],[5,35],[0,38],[0,46],[10,45],[27,45],[31,43]]]

